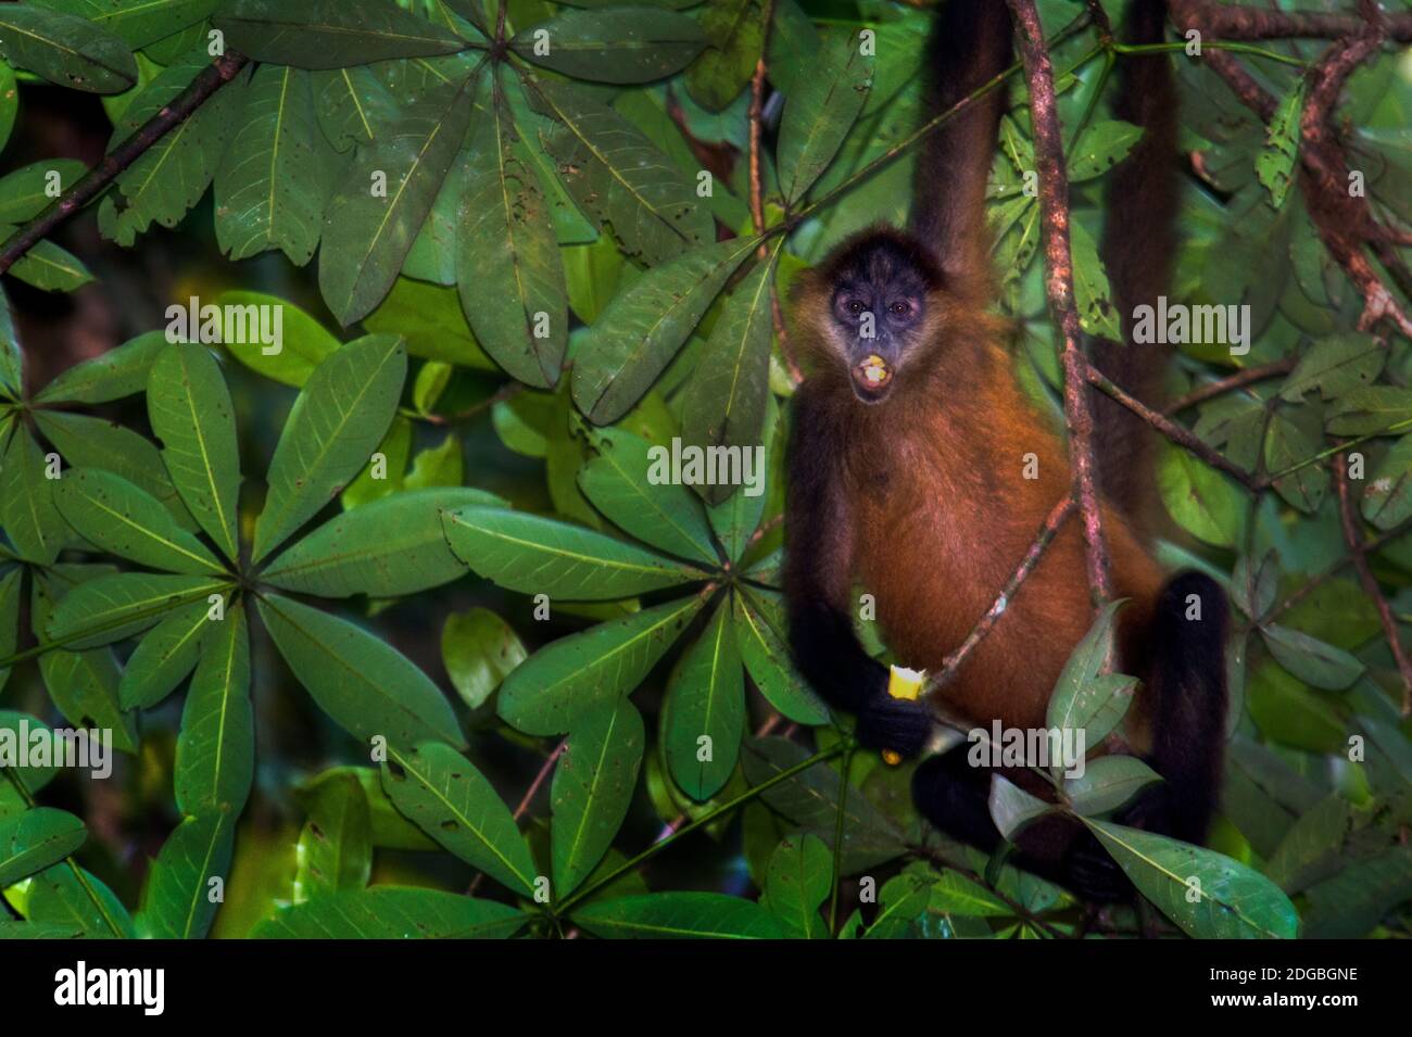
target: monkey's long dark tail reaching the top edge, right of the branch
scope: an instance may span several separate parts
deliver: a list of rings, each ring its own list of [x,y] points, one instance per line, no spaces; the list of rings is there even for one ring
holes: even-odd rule
[[[1165,27],[1165,0],[1134,0],[1124,37],[1131,44],[1159,44]],[[1179,189],[1176,85],[1166,54],[1127,55],[1118,62],[1118,76],[1114,113],[1144,130],[1138,145],[1108,174],[1101,243],[1125,341],[1094,341],[1093,361],[1123,389],[1158,406],[1171,351],[1132,341],[1132,310],[1155,305],[1172,275]],[[1156,435],[1097,391],[1093,419],[1104,495],[1139,529],[1155,532],[1162,525],[1154,473]]]

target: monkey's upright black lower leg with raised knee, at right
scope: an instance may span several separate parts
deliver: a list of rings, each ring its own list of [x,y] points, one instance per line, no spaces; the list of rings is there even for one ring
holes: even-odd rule
[[[1200,845],[1226,753],[1226,593],[1204,573],[1172,577],[1152,619],[1152,748],[1163,782],[1124,820]]]

